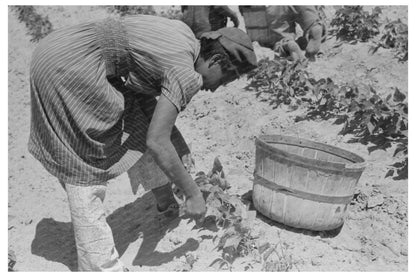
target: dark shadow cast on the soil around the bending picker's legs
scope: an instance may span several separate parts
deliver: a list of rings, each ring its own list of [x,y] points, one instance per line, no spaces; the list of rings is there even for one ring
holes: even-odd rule
[[[149,192],[134,202],[118,208],[107,217],[120,256],[132,242],[143,237],[138,253],[132,261],[133,265],[160,266],[175,257],[196,250],[199,246],[198,241],[190,238],[171,252],[155,251],[166,232],[176,228],[181,219],[174,218],[160,222],[154,205],[154,198]],[[52,218],[42,219],[36,226],[31,250],[34,255],[62,263],[71,271],[77,271],[75,238],[70,222],[58,222]]]

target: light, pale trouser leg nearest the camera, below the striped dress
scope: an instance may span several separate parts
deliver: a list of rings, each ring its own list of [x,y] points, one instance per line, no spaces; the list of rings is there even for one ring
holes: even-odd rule
[[[123,271],[103,206],[107,183],[61,184],[68,195],[80,271]]]

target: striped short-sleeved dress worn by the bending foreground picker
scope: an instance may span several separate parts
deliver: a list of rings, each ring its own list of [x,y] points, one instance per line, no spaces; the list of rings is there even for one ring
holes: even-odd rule
[[[100,22],[57,30],[35,49],[30,68],[29,151],[61,181],[94,185],[133,166],[146,150],[146,133],[161,93],[178,111],[202,87],[194,70],[200,44],[184,23],[132,16],[126,90],[106,78],[97,32]],[[189,151],[174,128],[179,155]]]

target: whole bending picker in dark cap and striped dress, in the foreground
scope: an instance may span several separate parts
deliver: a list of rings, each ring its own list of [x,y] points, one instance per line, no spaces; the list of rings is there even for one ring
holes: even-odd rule
[[[214,92],[256,65],[251,40],[237,28],[198,40],[183,22],[149,15],[65,27],[39,43],[28,147],[66,191],[79,270],[125,270],[103,201],[108,180],[137,163],[160,212],[177,205],[174,183],[186,215],[204,216],[176,118],[199,90]]]

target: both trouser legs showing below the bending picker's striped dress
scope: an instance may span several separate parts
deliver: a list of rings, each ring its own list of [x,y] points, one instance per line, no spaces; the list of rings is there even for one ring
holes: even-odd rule
[[[169,179],[146,151],[128,171],[133,192],[141,184],[148,191],[166,185]],[[107,182],[99,185],[65,184],[68,195],[80,271],[123,271],[124,265],[114,245],[106,221],[104,198]]]

